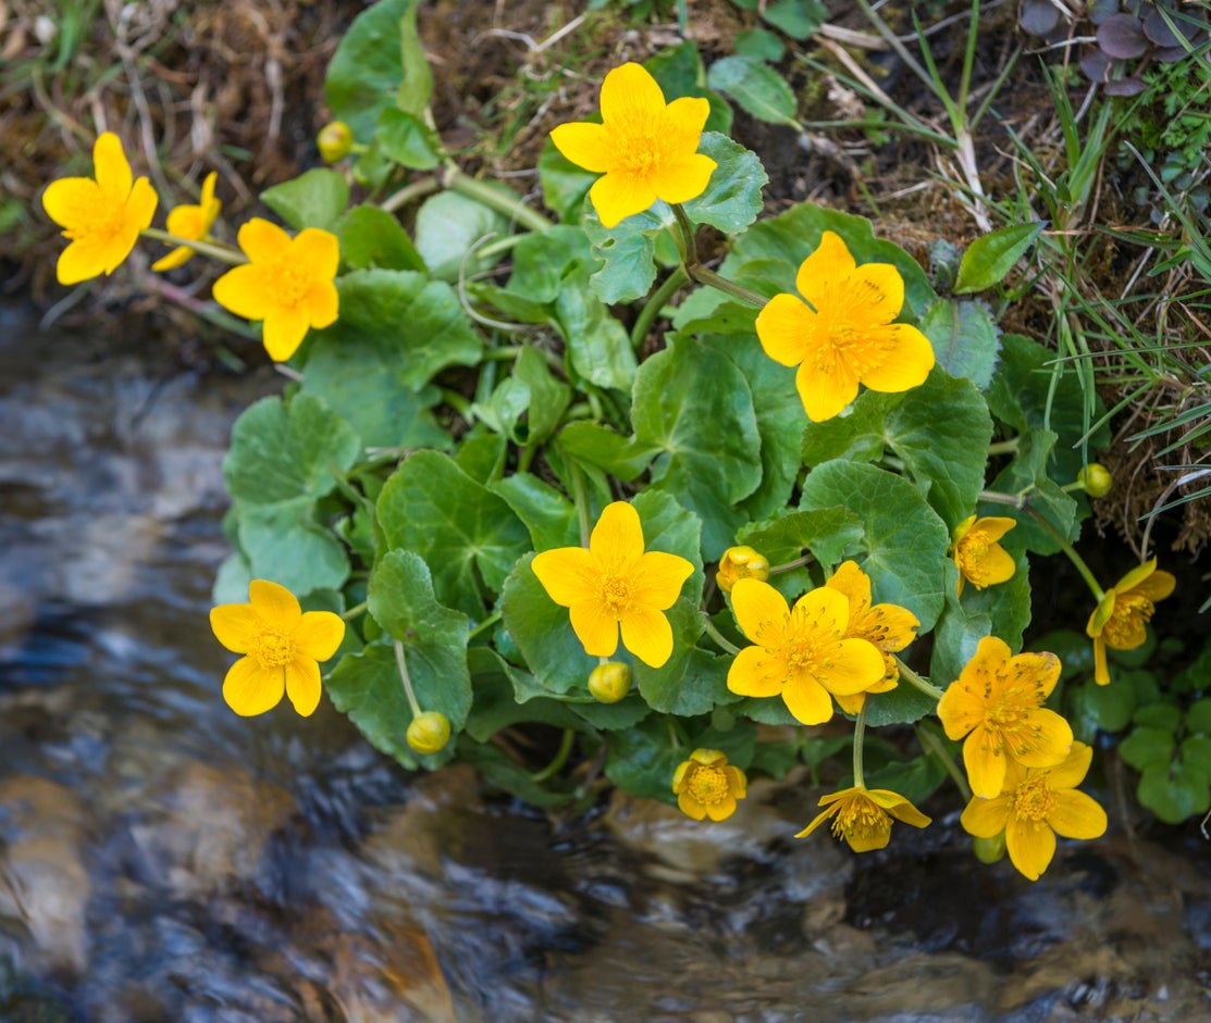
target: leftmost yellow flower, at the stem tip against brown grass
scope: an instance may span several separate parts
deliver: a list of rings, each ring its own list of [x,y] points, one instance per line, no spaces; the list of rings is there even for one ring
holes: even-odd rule
[[[113,132],[93,144],[92,162],[96,180],[61,178],[42,192],[47,215],[71,240],[56,268],[61,285],[113,274],[131,254],[139,231],[151,225],[159,202],[147,178],[132,183],[131,165]]]

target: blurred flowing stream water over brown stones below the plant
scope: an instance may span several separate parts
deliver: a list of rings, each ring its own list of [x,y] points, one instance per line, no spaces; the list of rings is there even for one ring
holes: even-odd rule
[[[235,717],[220,460],[280,378],[105,334],[0,308],[0,1019],[1211,1019],[1211,846],[1113,778],[1032,885],[947,798],[855,857],[792,838],[803,776],[552,822],[326,703]]]

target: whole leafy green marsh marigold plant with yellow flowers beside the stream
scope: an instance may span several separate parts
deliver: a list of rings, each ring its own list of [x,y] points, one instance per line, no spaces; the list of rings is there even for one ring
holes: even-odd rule
[[[761,218],[764,169],[712,128],[691,46],[615,68],[599,120],[552,132],[551,222],[443,150],[414,15],[380,0],[337,48],[320,144],[342,169],[262,196],[293,235],[217,240],[213,183],[150,228],[109,133],[94,178],[45,192],[62,281],[140,236],[171,272],[224,260],[214,301],[288,362],[224,462],[231,708],[309,714],[322,684],[408,768],[460,759],[543,806],[604,777],[712,821],[750,776],[851,745],[800,834],[880,849],[951,778],[980,854],[1028,878],[1057,834],[1100,835],[1061,659],[1021,649],[1032,565],[1084,576],[1112,690],[1107,651],[1147,643],[1175,580],[1153,559],[1103,588],[1077,554],[1104,431],[1075,372],[976,298],[1044,225],[976,240],[939,291],[863,218]],[[851,740],[820,730],[840,718]]]

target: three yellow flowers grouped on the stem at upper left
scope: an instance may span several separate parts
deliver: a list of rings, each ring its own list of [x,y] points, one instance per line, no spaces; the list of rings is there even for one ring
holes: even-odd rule
[[[70,241],[57,264],[63,285],[114,272],[131,254],[139,235],[149,232],[159,205],[150,182],[145,177],[134,179],[116,134],[104,132],[98,137],[92,160],[93,178],[61,178],[42,192],[47,215]],[[182,266],[202,248],[237,264],[214,282],[214,300],[236,316],[263,321],[269,355],[287,360],[308,329],[337,321],[337,237],[308,228],[292,238],[276,224],[256,217],[240,228],[241,252],[217,245],[211,229],[222,203],[214,197],[214,180],[213,173],[207,174],[196,205],[182,205],[168,213],[163,237],[176,247],[151,269]]]

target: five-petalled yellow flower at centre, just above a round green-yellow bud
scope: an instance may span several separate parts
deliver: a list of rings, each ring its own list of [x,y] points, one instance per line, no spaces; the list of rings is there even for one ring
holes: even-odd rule
[[[667,611],[694,571],[685,558],[643,551],[639,513],[626,501],[607,505],[584,547],[543,551],[534,575],[547,596],[568,608],[572,628],[593,657],[609,657],[622,645],[654,668],[673,651]]]

